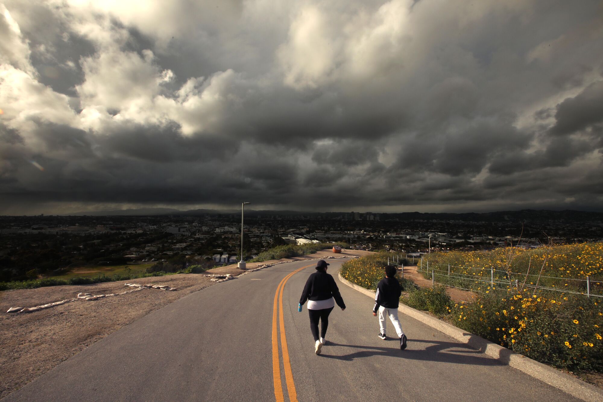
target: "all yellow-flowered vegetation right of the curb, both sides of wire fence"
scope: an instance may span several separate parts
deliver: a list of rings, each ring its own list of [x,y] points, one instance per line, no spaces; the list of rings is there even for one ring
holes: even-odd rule
[[[452,278],[452,273],[459,277],[464,277],[460,274],[470,276],[470,280],[462,280],[475,290],[475,298],[471,302],[455,303],[446,294],[444,286],[416,289],[402,281],[405,295],[400,301],[419,310],[428,310],[463,330],[539,362],[573,371],[603,372],[603,298],[570,293],[582,285],[570,284],[572,281],[567,280],[586,278],[586,275],[601,278],[602,248],[603,243],[584,243],[534,250],[507,248],[490,252],[434,253],[423,259],[423,268],[426,269],[430,261],[430,270],[437,264],[436,269],[446,266],[447,273],[450,263],[451,276],[441,272],[435,277],[437,281],[446,282],[445,278],[461,281]],[[387,264],[384,258],[387,255],[348,261],[343,264],[341,275],[366,289],[374,289],[376,282],[384,276],[383,267]],[[459,268],[461,266],[463,268]],[[489,283],[491,266],[505,270],[494,286]],[[536,276],[525,279],[523,275],[518,286],[513,275],[511,280],[504,275],[505,272],[528,274],[528,270],[530,275],[534,272]],[[538,277],[540,272],[551,278]],[[544,279],[550,281],[545,281],[550,289],[527,287],[530,282],[543,284]],[[522,286],[524,281],[525,286]],[[600,283],[593,279],[595,290]],[[560,287],[564,292],[551,290]],[[568,288],[573,290],[568,291]]]

